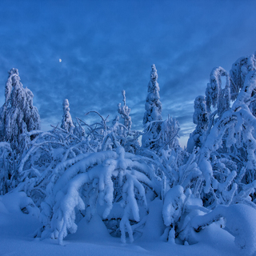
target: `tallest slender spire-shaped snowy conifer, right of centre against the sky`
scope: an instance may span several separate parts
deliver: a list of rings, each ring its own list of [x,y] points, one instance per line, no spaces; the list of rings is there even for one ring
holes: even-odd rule
[[[154,66],[151,66],[150,82],[148,85],[148,94],[145,103],[145,114],[143,118],[143,125],[147,122],[162,120],[162,103],[160,102],[159,96],[159,85],[158,85],[158,72]]]

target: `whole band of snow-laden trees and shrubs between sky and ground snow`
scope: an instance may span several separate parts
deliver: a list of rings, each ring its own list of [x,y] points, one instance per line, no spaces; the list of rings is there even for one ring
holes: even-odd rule
[[[37,219],[38,243],[65,245],[82,223],[121,244],[154,240],[180,251],[214,232],[233,239],[238,255],[254,254],[256,54],[211,71],[185,148],[178,121],[162,118],[154,64],[142,131],[132,129],[125,90],[114,120],[93,109],[72,118],[64,99],[62,121],[49,131],[40,130],[33,97],[11,69],[0,109],[0,213]]]

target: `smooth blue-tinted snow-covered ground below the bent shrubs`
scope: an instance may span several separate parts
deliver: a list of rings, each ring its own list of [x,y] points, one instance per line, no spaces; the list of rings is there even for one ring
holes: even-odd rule
[[[215,224],[201,230],[197,234],[200,242],[194,245],[162,242],[152,234],[123,244],[108,234],[98,215],[89,223],[83,218],[77,232],[69,234],[60,246],[57,240],[33,238],[41,226],[38,217],[22,213],[12,198],[6,202],[0,197],[0,255],[246,255],[235,246],[234,237]]]

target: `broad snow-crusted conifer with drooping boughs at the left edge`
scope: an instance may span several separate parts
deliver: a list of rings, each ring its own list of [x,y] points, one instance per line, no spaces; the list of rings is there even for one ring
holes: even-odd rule
[[[18,69],[9,71],[6,101],[0,109],[0,141],[17,142],[24,132],[40,129],[38,109],[33,106],[31,90],[23,88]]]

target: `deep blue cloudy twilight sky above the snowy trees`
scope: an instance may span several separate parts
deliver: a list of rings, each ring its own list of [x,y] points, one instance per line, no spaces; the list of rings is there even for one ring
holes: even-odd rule
[[[150,66],[158,70],[162,117],[177,118],[181,142],[194,130],[194,98],[214,66],[230,70],[256,50],[255,1],[0,2],[0,103],[8,70],[34,93],[42,129],[97,110],[112,121],[126,90],[142,130]],[[62,62],[59,62],[59,59]]]

